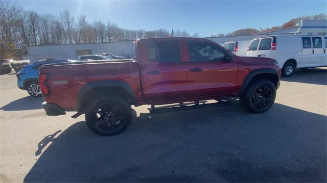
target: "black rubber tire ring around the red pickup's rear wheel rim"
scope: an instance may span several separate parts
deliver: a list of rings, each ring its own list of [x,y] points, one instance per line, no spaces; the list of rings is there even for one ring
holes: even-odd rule
[[[101,103],[105,102],[113,102],[119,104],[119,106],[121,106],[124,111],[124,116],[126,117],[126,119],[124,120],[124,124],[122,124],[123,126],[119,130],[116,130],[114,132],[106,132],[105,130],[99,130],[95,126],[96,121],[94,121],[93,119],[95,108],[98,107]],[[94,102],[91,102],[85,111],[85,121],[87,126],[92,130],[92,132],[102,136],[113,136],[122,133],[130,124],[131,118],[132,111],[130,104],[128,104],[127,101],[118,96],[100,97]]]

